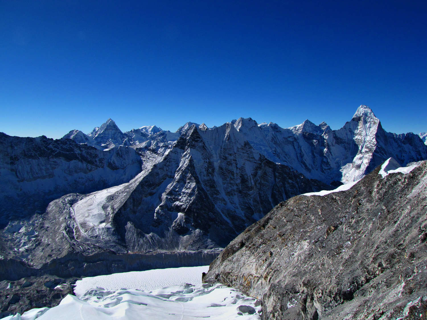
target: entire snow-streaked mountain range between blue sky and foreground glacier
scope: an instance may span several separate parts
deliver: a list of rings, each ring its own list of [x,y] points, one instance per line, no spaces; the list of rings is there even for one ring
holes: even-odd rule
[[[35,264],[69,252],[224,247],[294,195],[357,180],[391,156],[427,158],[417,135],[383,131],[366,106],[336,131],[240,118],[122,132],[108,119],[61,140],[2,137],[0,250]]]

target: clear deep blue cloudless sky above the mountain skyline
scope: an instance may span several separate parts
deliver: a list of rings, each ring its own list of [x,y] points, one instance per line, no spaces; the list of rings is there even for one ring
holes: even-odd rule
[[[427,131],[427,2],[0,0],[0,131],[240,116]]]

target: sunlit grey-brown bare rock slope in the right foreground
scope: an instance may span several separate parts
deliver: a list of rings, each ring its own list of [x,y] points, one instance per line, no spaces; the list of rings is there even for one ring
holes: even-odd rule
[[[263,319],[424,319],[427,162],[291,198],[212,262],[205,282],[263,300]]]

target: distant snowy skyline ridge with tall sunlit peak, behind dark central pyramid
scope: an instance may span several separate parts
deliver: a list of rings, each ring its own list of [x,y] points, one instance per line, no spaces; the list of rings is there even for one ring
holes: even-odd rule
[[[202,139],[211,145],[214,152],[221,148],[223,141],[237,137],[239,141],[247,141],[269,160],[290,166],[309,178],[326,183],[334,180],[343,183],[358,180],[389,156],[395,157],[401,164],[407,163],[411,153],[407,149],[409,140],[409,145],[418,145],[416,148],[421,152],[419,155],[427,155],[425,147],[422,146],[423,140],[419,139],[421,135],[385,131],[380,119],[366,105],[360,105],[351,120],[338,130],[331,130],[326,122],[316,125],[308,119],[300,125],[281,128],[273,122],[258,124],[252,118],[234,119],[211,128],[204,123],[199,125],[187,122],[175,133],[162,131],[157,127],[158,130],[153,131],[152,128],[154,127],[144,126],[123,133],[110,118],[88,135],[81,131],[77,135],[73,130],[64,138],[72,138],[76,142],[80,141],[78,143],[86,143],[99,150],[111,149],[118,145],[133,148],[151,146],[167,150],[194,128],[199,131]],[[81,136],[84,136],[84,139]],[[342,150],[336,147],[344,141],[347,147]],[[390,153],[391,150],[395,150],[395,153]]]

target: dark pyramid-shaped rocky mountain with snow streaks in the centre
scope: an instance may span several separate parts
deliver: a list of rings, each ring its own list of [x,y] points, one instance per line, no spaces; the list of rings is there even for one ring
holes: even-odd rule
[[[249,143],[229,137],[213,151],[206,140],[190,127],[114,213],[128,250],[224,247],[278,202],[330,188],[272,163]]]

